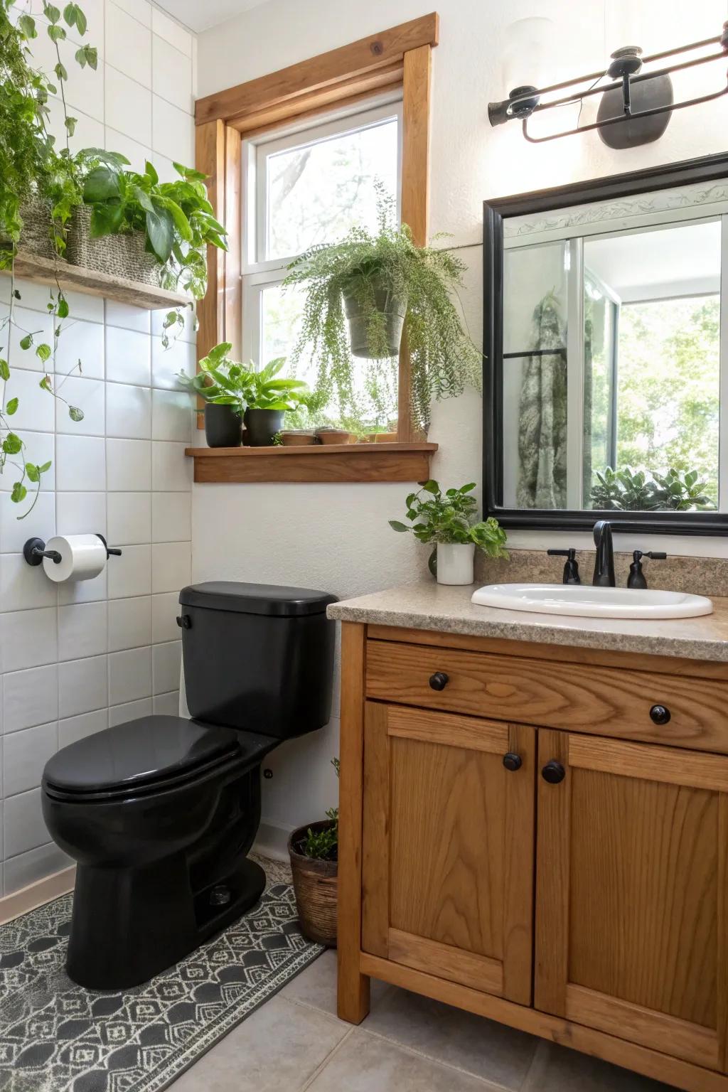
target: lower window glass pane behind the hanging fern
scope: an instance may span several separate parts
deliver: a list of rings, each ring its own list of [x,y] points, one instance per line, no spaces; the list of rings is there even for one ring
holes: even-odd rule
[[[294,366],[294,348],[300,331],[300,314],[303,309],[303,289],[271,285],[261,292],[261,365],[278,356],[287,357],[286,376],[305,380],[311,389],[315,387],[317,368],[310,360],[300,359]],[[311,415],[306,411],[286,415],[286,428],[321,427],[336,425],[351,432],[396,431],[397,420],[397,372],[396,357],[389,360],[354,360],[355,399],[357,423],[342,414],[336,392],[332,392],[327,405]]]

